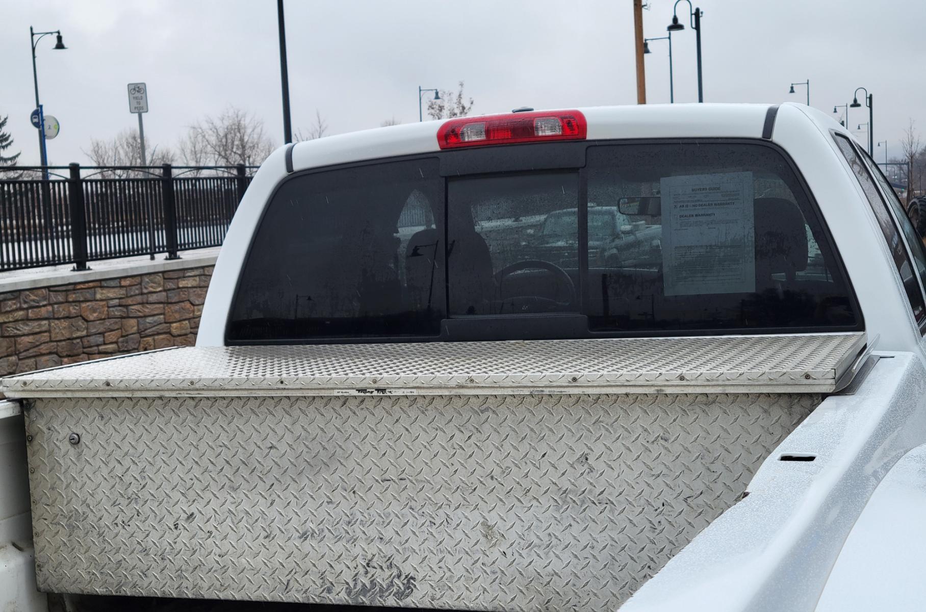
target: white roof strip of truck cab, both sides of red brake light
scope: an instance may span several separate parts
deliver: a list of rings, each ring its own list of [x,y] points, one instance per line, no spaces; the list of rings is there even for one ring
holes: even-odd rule
[[[662,104],[576,107],[588,121],[586,140],[638,138],[761,138],[769,104]],[[808,127],[845,131],[826,114],[804,105]],[[493,113],[495,114],[495,113]],[[392,156],[440,151],[437,131],[444,120],[354,131],[296,143],[293,171]],[[848,132],[846,132],[848,133]]]

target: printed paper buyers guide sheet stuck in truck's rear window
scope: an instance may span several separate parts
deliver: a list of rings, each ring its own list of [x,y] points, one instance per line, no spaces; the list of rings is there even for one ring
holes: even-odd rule
[[[666,295],[756,291],[752,172],[660,181]]]

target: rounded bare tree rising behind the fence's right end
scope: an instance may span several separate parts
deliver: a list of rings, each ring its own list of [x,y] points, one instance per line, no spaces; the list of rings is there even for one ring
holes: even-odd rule
[[[234,106],[197,121],[181,141],[183,163],[189,166],[257,166],[273,149],[263,120]]]

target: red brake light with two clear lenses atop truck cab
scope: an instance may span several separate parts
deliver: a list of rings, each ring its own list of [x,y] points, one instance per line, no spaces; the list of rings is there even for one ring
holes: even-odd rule
[[[511,113],[450,119],[437,131],[442,149],[487,144],[585,140],[588,124],[578,110]]]

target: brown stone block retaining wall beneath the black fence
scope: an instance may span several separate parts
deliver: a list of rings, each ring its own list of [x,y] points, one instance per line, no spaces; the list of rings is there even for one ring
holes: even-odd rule
[[[0,376],[195,343],[212,267],[0,294]]]

